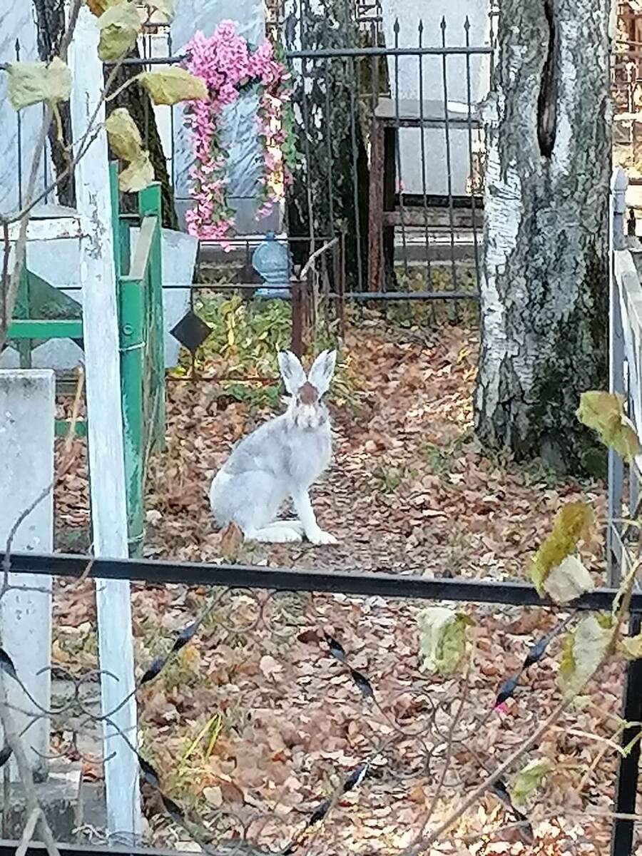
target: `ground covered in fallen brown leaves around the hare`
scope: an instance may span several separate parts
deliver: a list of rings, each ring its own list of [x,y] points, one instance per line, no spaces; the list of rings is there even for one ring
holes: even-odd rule
[[[331,405],[336,458],[313,490],[319,521],[340,544],[243,546],[236,561],[523,579],[562,502],[588,500],[603,520],[603,485],[561,483],[545,467],[479,449],[471,403],[476,349],[474,326],[428,334],[383,330],[374,318],[354,326]],[[168,445],[152,464],[146,552],[220,562],[226,549],[206,499],[211,475],[267,410],[252,396],[236,401],[241,396],[218,383],[172,380],[168,395]],[[56,491],[56,513],[63,544],[73,547],[74,533],[86,526],[82,455]],[[601,541],[597,532],[585,556],[596,574]],[[205,588],[136,586],[133,603],[140,674],[194,615],[209,610],[193,643],[141,692],[140,716],[142,751],[164,793],[196,812],[212,841],[250,823],[250,839],[285,847],[319,803],[368,762],[363,782],[339,795],[300,852],[403,852],[429,814],[433,824],[446,817],[559,700],[556,639],[522,677],[506,712],[492,710],[502,682],[555,625],[543,609],[464,604],[475,621],[473,665],[467,678],[443,680],[421,671],[420,604],[250,592],[209,597]],[[56,610],[56,656],[69,668],[95,665],[95,645],[87,641],[91,586],[60,584]],[[329,638],[347,662],[333,656]],[[607,852],[610,821],[601,815],[611,809],[615,744],[606,740],[617,728],[620,681],[618,667],[607,669],[580,710],[547,728],[523,759],[554,760],[525,807],[534,844],[522,840],[506,806],[485,794],[430,852]],[[513,781],[507,776],[508,787]],[[153,839],[189,847],[153,788],[146,798]],[[265,817],[251,821],[257,812]],[[484,836],[499,827],[500,834]]]

